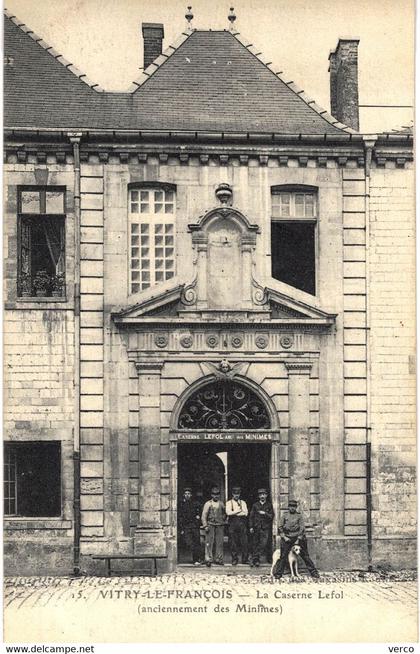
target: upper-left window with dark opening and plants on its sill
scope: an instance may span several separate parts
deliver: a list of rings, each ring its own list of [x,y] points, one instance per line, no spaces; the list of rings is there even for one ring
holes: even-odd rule
[[[64,190],[19,189],[20,297],[65,296]]]

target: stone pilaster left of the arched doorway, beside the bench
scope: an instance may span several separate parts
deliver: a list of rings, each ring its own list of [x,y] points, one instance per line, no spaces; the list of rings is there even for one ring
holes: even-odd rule
[[[160,375],[163,363],[136,363],[139,376],[139,524],[136,554],[166,553],[160,521]]]

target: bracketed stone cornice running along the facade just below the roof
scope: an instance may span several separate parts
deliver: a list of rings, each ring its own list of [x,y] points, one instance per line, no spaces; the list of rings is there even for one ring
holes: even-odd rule
[[[337,133],[329,134],[277,134],[252,132],[188,132],[157,130],[78,130],[81,135],[82,156],[98,157],[104,163],[116,156],[122,161],[138,157],[157,156],[165,163],[170,156],[178,156],[188,164],[189,157],[199,156],[201,163],[208,163],[210,157],[221,157],[221,164],[229,163],[230,157],[238,157],[241,165],[248,158],[259,159],[262,166],[275,157],[297,157],[299,165],[305,166],[308,158],[327,156],[337,158],[363,157],[364,141],[370,135]],[[413,134],[387,133],[371,135],[375,148],[400,147],[404,151],[413,149]],[[67,129],[44,129],[37,127],[5,127],[5,149],[17,149],[21,153],[45,151],[53,154],[69,144]],[[67,149],[67,151],[69,151]],[[21,154],[23,157],[23,154]],[[181,159],[180,159],[181,160]],[[283,161],[280,163],[287,163]],[[321,161],[322,165],[322,161]],[[362,165],[362,164],[360,164]]]

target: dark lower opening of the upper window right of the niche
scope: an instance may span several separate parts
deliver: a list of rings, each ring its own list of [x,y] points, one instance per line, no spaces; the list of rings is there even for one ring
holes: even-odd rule
[[[315,223],[271,223],[272,275],[315,295]]]

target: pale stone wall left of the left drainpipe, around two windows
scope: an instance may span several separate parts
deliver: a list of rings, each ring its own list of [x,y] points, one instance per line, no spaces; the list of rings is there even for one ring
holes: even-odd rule
[[[35,161],[5,167],[4,438],[60,441],[62,514],[6,517],[7,574],[73,569],[74,177],[70,165]],[[17,297],[17,187],[47,183],[66,186],[66,301]]]

